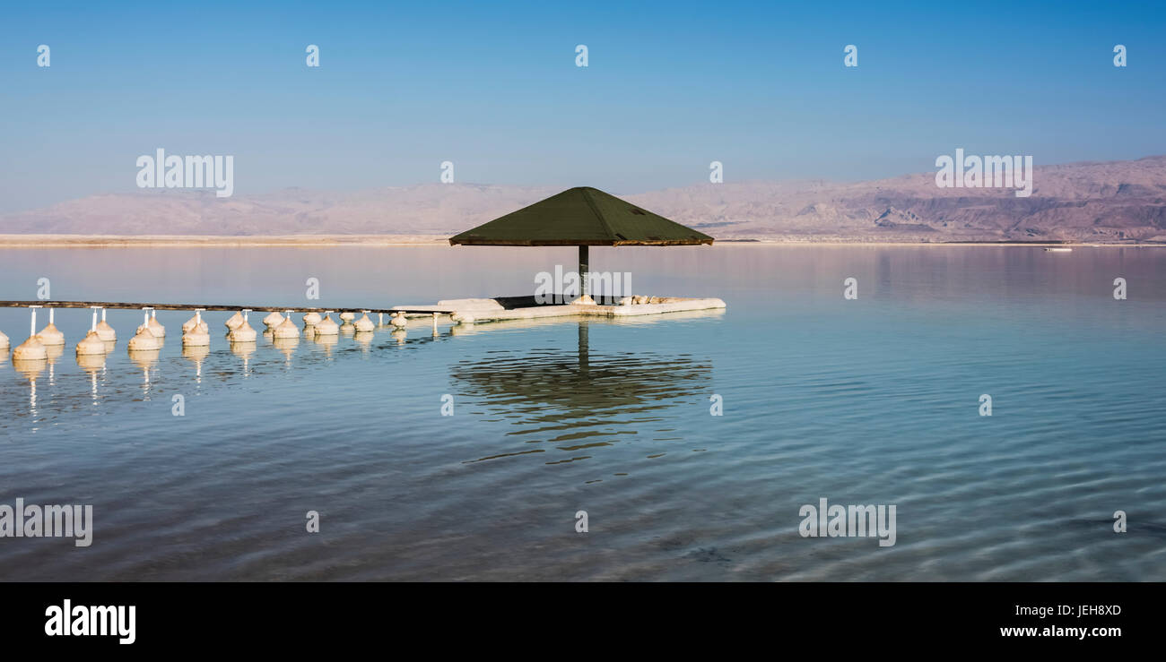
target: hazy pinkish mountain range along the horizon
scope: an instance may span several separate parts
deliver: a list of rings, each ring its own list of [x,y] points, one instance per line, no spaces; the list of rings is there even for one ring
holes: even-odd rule
[[[717,239],[1166,241],[1166,156],[1038,165],[1034,182],[1027,198],[1011,189],[940,189],[934,172],[858,183],[743,182],[610,192]],[[231,198],[149,190],[3,214],[0,233],[450,235],[559,190],[435,183]]]

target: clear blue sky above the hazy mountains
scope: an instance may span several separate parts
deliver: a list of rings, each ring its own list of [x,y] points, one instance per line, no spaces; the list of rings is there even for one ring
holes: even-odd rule
[[[136,190],[157,147],[234,155],[237,196],[436,182],[444,160],[459,182],[630,193],[714,160],[726,181],[863,179],[956,147],[1166,153],[1163,3],[237,5],[8,3],[0,211]]]

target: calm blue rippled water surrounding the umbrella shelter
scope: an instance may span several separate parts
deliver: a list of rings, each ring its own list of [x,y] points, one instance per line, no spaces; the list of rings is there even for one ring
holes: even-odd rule
[[[387,307],[531,294],[574,259],[9,249],[0,298],[48,277],[56,300],[294,308],[316,277],[314,305]],[[234,351],[211,312],[206,355],[183,354],[189,315],[163,311],[155,361],[126,351],[141,314],[110,311],[118,345],[92,368],[73,355],[89,311],[61,311],[62,355],[0,362],[0,503],[92,503],[93,544],[0,538],[0,579],[1166,580],[1166,252],[725,245],[591,262],[631,272],[635,294],[729,308]],[[28,323],[0,309],[13,345]],[[801,537],[799,508],[823,496],[897,505],[897,544]]]

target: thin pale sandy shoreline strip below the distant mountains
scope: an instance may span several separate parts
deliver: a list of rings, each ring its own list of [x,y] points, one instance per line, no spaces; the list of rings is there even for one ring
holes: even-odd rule
[[[858,241],[852,239],[766,239],[733,238],[717,240],[733,246],[1027,246],[1027,247],[1117,247],[1153,248],[1166,244],[1087,244],[1077,241]],[[0,234],[0,248],[197,248],[197,247],[322,247],[322,246],[448,246],[444,235],[431,234]]]

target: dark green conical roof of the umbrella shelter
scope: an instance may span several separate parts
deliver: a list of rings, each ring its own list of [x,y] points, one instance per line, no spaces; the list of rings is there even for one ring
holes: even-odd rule
[[[450,237],[465,246],[681,246],[712,238],[590,186],[577,186]]]

